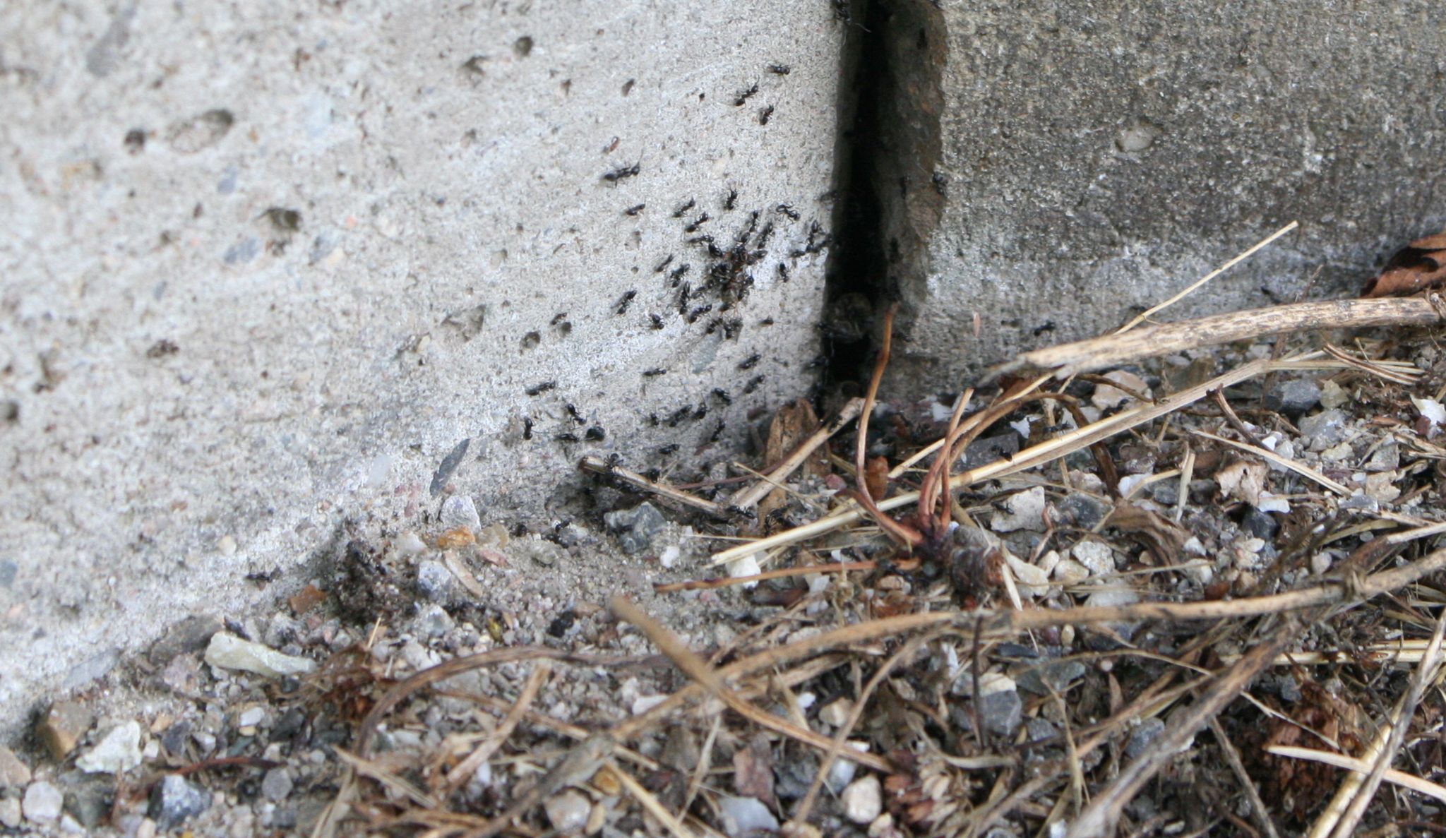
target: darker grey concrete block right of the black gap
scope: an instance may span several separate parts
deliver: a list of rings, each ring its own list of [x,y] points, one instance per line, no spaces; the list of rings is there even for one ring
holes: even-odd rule
[[[1316,269],[1313,295],[1355,293],[1446,221],[1433,3],[881,9],[895,392],[1118,327],[1293,220],[1168,316],[1294,299]]]

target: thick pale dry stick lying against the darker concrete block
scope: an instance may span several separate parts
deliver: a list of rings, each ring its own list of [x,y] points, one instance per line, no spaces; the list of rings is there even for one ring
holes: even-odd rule
[[[1439,322],[1442,322],[1442,315],[1437,314],[1436,306],[1429,299],[1416,296],[1299,302],[1160,324],[1124,334],[1034,350],[999,367],[991,373],[991,377],[1024,367],[1035,367],[1053,370],[1056,379],[1066,379],[1139,358],[1281,332],[1358,327],[1429,327]]]

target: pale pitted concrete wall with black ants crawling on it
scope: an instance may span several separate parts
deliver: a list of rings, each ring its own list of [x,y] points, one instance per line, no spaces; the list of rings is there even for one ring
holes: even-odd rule
[[[697,459],[807,390],[842,35],[762,0],[12,6],[0,728],[343,520],[545,514],[583,454]],[[709,286],[685,240],[752,211]]]

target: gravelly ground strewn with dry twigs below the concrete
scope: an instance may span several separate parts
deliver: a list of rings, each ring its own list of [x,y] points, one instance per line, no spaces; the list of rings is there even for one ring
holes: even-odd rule
[[[1443,389],[1430,331],[1299,331],[884,403],[862,451],[795,405],[742,467],[593,462],[568,520],[359,523],[38,720],[0,825],[1443,832]]]

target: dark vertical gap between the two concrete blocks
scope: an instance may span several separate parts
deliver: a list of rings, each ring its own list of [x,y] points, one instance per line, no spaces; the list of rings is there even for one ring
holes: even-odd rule
[[[921,264],[947,181],[940,157],[943,16],[920,0],[860,0],[842,61],[839,202],[829,254],[823,329],[824,392],[862,394],[882,341],[884,312],[899,301],[899,269]],[[905,95],[907,92],[907,95]],[[910,103],[927,103],[917,108]],[[888,192],[886,192],[888,191]],[[894,357],[908,351],[895,321]]]

